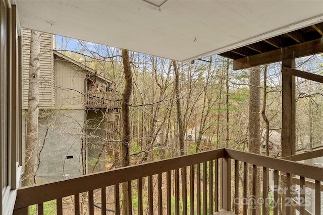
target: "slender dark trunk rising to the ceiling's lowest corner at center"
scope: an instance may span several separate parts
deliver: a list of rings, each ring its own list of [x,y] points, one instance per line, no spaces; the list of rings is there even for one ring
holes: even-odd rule
[[[175,96],[176,96],[176,107],[177,107],[177,123],[179,128],[179,145],[180,145],[180,155],[184,155],[184,130],[181,114],[181,99],[180,99],[180,75],[177,68],[176,61],[173,62],[174,72],[175,72]]]

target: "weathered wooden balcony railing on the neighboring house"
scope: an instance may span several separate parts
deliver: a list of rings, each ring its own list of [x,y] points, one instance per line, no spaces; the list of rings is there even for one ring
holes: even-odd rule
[[[119,92],[92,92],[86,93],[86,108],[121,108],[122,94]]]

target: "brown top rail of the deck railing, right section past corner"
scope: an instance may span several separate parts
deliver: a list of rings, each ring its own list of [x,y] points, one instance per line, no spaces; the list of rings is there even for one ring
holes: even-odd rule
[[[241,152],[232,149],[225,149],[225,157],[243,161],[257,166],[262,166],[294,175],[323,181],[323,168],[294,161],[287,161],[279,158],[271,158],[248,152]]]

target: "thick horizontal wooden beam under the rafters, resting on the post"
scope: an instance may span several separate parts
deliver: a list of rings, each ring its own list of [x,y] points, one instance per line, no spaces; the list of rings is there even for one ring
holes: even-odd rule
[[[249,68],[256,65],[278,62],[288,58],[298,58],[323,52],[323,44],[320,39],[287,46],[274,51],[252,55],[233,61],[233,69]]]

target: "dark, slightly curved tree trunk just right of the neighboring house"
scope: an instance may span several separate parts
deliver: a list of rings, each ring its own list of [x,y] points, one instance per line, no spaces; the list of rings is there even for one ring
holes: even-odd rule
[[[125,89],[122,96],[122,166],[126,167],[130,165],[129,157],[129,145],[130,145],[130,117],[129,117],[129,103],[132,92],[132,75],[130,68],[129,51],[122,50],[122,61],[125,74]],[[128,183],[122,184],[122,214],[128,214],[128,192],[131,187],[128,187]]]

